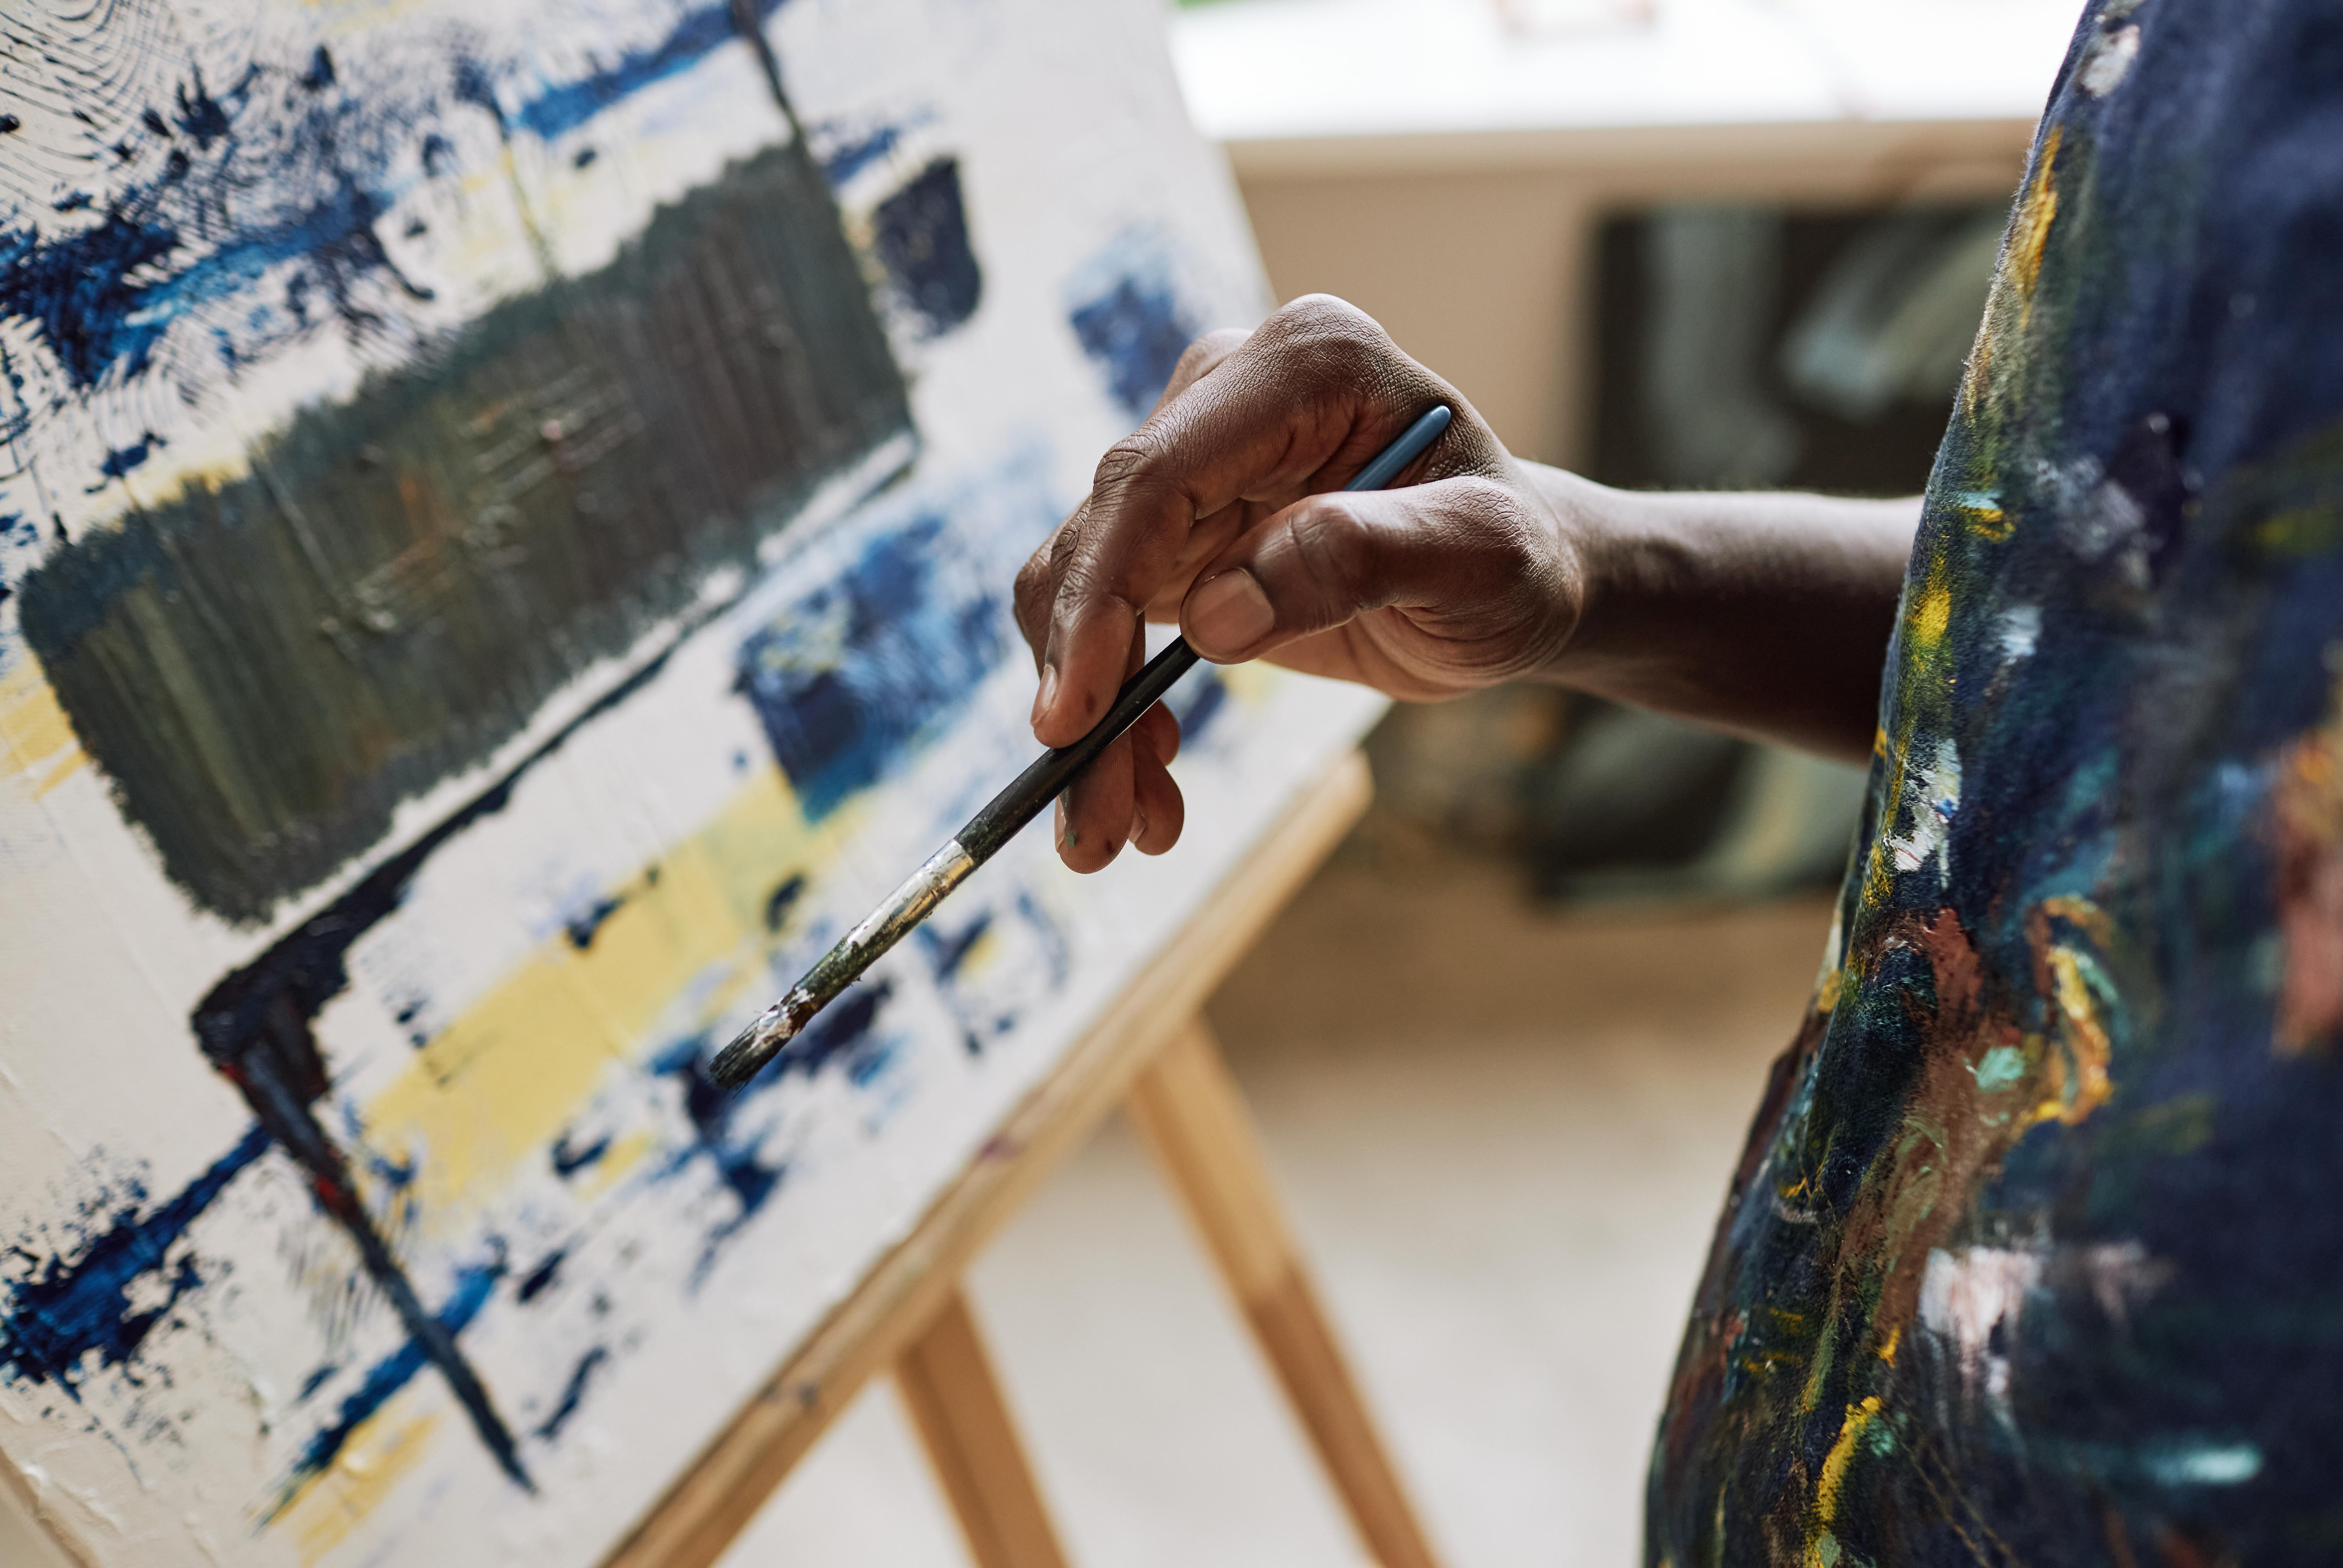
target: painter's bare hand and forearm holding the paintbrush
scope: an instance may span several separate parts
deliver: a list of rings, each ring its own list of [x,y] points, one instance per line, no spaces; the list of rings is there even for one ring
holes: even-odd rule
[[[1392,490],[1343,495],[1434,403]],[[1546,680],[1835,757],[1872,748],[1919,502],[1645,495],[1521,462],[1441,377],[1326,295],[1190,345],[1162,401],[1017,574],[1033,734],[1078,741],[1176,621],[1401,701]],[[1157,705],[1059,799],[1078,872],[1160,855],[1183,806]]]

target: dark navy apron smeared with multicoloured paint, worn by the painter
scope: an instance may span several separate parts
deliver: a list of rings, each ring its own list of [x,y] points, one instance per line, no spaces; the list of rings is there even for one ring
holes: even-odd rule
[[[2099,0],[1717,1226],[1652,1563],[2343,1540],[2343,16]]]

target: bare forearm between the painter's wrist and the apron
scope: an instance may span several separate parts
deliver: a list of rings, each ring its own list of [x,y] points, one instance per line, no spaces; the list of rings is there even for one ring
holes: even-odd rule
[[[1582,691],[1863,759],[1919,499],[1647,495],[1523,464],[1584,572]]]

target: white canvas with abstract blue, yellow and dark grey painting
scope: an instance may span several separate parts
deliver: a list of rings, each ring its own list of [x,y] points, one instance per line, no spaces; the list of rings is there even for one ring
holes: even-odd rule
[[[1375,713],[1033,755],[1017,563],[1265,305],[1146,0],[0,28],[0,1472],[84,1561],[590,1563]]]

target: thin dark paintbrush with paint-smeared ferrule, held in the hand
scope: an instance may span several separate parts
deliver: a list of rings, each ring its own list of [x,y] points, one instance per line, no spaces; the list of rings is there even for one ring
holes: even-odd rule
[[[1425,450],[1439,441],[1441,431],[1448,429],[1448,405],[1434,405],[1415,424],[1401,431],[1399,441],[1382,448],[1371,464],[1359,469],[1359,478],[1343,485],[1345,490],[1382,490],[1389,485],[1401,469],[1425,455]],[[996,795],[982,811],[968,818],[963,827],[944,848],[928,855],[928,863],[911,872],[911,877],[888,893],[886,902],[879,905],[869,919],[848,930],[836,947],[822,954],[820,963],[806,970],[806,977],[790,987],[790,994],[776,1001],[771,1008],[757,1015],[747,1029],[733,1036],[733,1043],[717,1052],[717,1059],[708,1064],[708,1073],[724,1088],[740,1088],[757,1076],[757,1069],[771,1062],[783,1045],[787,1045],[799,1029],[813,1022],[813,1015],[827,1008],[839,991],[862,977],[862,973],[879,961],[895,942],[904,940],[914,926],[918,926],[928,914],[944,902],[944,895],[956,886],[968,881],[968,874],[993,858],[1003,844],[1017,837],[1017,830],[1040,816],[1043,806],[1057,799],[1073,776],[1104,752],[1115,736],[1139,722],[1139,715],[1153,708],[1172,689],[1172,684],[1195,668],[1197,652],[1188,647],[1186,638],[1172,638],[1172,645],[1155,654],[1141,666],[1136,675],[1122,682],[1115,694],[1113,705],[1108,705],[1106,717],[1099,720],[1087,736],[1073,745],[1059,745],[1057,750],[1043,752],[1033,766],[1017,776],[1017,780]]]

